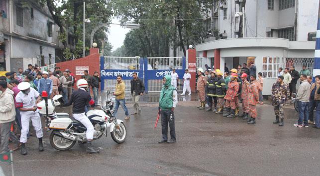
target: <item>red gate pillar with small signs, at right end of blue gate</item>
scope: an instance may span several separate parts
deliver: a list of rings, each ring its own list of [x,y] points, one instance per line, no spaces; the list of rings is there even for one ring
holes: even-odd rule
[[[195,49],[189,49],[187,50],[187,59],[188,59],[188,65],[186,65],[186,68],[189,69],[189,72],[191,74],[190,79],[190,87],[191,91],[196,91],[196,50]]]

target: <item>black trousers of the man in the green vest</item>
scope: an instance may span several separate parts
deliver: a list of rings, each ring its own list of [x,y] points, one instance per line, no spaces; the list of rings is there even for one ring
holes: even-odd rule
[[[171,117],[172,115],[172,117]],[[168,140],[168,123],[171,140],[176,140],[175,117],[171,110],[161,110],[162,139]]]

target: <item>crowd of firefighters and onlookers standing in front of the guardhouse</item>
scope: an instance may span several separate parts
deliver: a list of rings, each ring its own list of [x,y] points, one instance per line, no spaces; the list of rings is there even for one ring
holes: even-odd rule
[[[256,77],[256,67],[251,62],[249,68],[246,63],[232,68],[222,75],[219,69],[206,67],[198,68],[197,91],[200,100],[198,108],[200,110],[213,111],[222,114],[223,117],[233,118],[236,116],[246,119],[248,124],[255,124],[257,110],[256,105],[263,104],[263,76],[258,73]],[[294,126],[309,127],[314,124],[314,128],[320,129],[320,76],[316,76],[316,82],[312,83],[312,76],[307,66],[298,72],[295,66],[278,69],[278,79],[272,86],[272,105],[276,120],[273,123],[284,125],[283,106],[288,99],[296,92],[296,85],[300,79],[300,86],[297,92],[299,107],[299,119]],[[242,113],[239,115],[239,102],[242,104]],[[319,107],[318,107],[319,106]],[[316,118],[314,120],[314,109]],[[225,111],[223,113],[223,111]]]

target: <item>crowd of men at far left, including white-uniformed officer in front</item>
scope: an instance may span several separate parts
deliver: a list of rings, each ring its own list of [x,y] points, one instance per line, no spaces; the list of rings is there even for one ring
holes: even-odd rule
[[[98,72],[94,72],[91,76],[88,70],[85,70],[82,78],[88,82],[88,90],[90,92],[90,88],[92,88],[94,100],[98,102],[98,90],[101,82]],[[27,153],[24,144],[29,135],[32,135],[29,132],[30,120],[36,131],[36,136],[39,138],[39,151],[42,151],[43,134],[40,115],[34,106],[41,100],[42,91],[46,91],[50,99],[61,94],[64,101],[68,102],[76,82],[75,75],[69,69],[64,72],[60,71],[60,67],[55,67],[52,71],[40,70],[39,67],[32,64],[29,64],[24,71],[22,68],[18,68],[17,72],[11,71],[5,73],[5,76],[1,76],[0,134],[2,152],[8,152],[9,148],[6,141],[10,138],[12,142],[17,142],[17,144],[20,142],[13,150],[21,146],[21,154]],[[13,121],[15,123],[12,123]],[[13,124],[16,124],[16,127]],[[21,131],[21,133],[19,134],[18,131]],[[20,135],[20,140],[16,140],[15,134]]]

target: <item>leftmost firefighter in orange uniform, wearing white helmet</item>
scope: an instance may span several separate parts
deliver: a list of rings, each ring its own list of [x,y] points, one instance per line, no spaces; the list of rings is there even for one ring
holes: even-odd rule
[[[206,101],[206,93],[205,93],[205,87],[207,84],[207,80],[205,78],[205,76],[202,74],[204,72],[204,69],[202,69],[201,67],[198,68],[198,81],[197,81],[197,91],[198,91],[198,96],[199,96],[199,100],[201,102],[200,106],[197,106],[197,108],[199,108],[200,110],[204,110],[205,109],[205,101]]]

